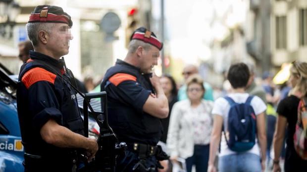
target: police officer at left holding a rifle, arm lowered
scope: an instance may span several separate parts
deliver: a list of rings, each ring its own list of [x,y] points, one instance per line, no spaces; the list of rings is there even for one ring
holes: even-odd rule
[[[91,160],[98,145],[84,137],[75,92],[60,57],[68,54],[72,21],[61,7],[40,5],[26,25],[34,46],[21,67],[17,109],[26,172],[74,172],[82,151]]]

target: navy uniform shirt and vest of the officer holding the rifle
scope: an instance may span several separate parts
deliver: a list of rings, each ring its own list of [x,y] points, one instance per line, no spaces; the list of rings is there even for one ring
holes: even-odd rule
[[[21,82],[17,89],[17,109],[25,150],[36,155],[64,154],[63,148],[46,143],[40,136],[40,130],[53,119],[59,125],[84,135],[74,91],[56,73],[43,67],[32,67],[31,64],[31,61],[43,61],[63,74],[63,64],[58,60],[34,51],[30,51],[30,57],[28,63],[21,67],[20,71],[25,72],[19,77]]]

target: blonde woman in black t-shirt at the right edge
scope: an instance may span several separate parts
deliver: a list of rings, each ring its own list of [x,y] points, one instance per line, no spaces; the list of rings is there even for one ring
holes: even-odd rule
[[[307,172],[307,160],[304,160],[297,153],[295,149],[297,138],[294,138],[297,123],[301,122],[298,121],[299,103],[304,99],[304,97],[307,97],[307,63],[294,62],[290,69],[290,78],[288,82],[291,83],[293,89],[290,91],[290,95],[283,99],[277,107],[278,116],[274,134],[273,171],[281,172],[279,156],[283,145],[282,143],[285,136],[285,129],[288,125],[284,170],[285,172]]]

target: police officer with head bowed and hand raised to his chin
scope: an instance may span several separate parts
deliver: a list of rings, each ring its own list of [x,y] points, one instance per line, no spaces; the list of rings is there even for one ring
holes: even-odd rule
[[[161,49],[155,34],[139,28],[131,36],[124,61],[118,59],[103,78],[109,124],[119,141],[128,145],[125,156],[117,159],[117,172],[157,172],[157,160],[167,158],[156,144],[168,102],[158,77],[151,73]]]

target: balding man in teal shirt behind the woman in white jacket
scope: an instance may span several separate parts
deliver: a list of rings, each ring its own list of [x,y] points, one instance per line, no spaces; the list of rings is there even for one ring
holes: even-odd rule
[[[182,72],[185,81],[192,74],[195,74],[195,73],[198,73],[198,69],[195,65],[187,65],[186,67],[184,67],[183,72]],[[203,99],[213,101],[214,100],[213,99],[213,90],[212,90],[211,85],[207,82],[204,82],[203,84],[204,84],[204,87],[205,87],[205,95],[204,95]],[[184,84],[178,90],[178,101],[182,101],[182,100],[186,100],[186,99],[188,99],[187,85]]]

